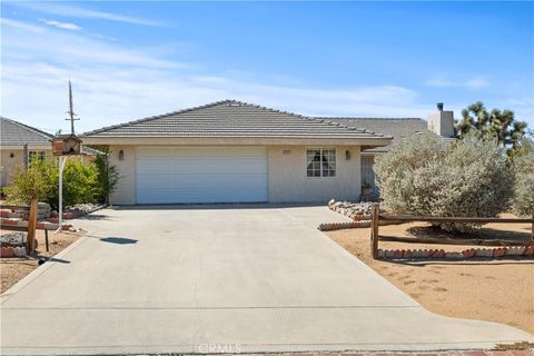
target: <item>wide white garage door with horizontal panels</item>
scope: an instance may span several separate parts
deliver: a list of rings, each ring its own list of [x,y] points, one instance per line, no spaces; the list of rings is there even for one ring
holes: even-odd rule
[[[140,147],[138,204],[267,201],[265,147]]]

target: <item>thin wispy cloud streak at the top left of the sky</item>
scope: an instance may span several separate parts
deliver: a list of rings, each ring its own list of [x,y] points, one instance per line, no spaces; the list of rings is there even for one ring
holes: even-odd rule
[[[59,4],[55,2],[13,2],[11,4],[41,13],[50,13],[53,16],[62,16],[69,18],[98,19],[142,26],[166,26],[165,23],[159,21],[147,20],[138,17],[97,11],[88,8]]]

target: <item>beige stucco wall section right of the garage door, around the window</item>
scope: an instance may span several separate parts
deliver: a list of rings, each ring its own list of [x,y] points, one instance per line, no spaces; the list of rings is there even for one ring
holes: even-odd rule
[[[306,147],[269,147],[269,202],[358,199],[362,190],[359,146],[335,148],[336,177],[309,178],[306,176]],[[350,160],[346,160],[347,150],[350,152]]]

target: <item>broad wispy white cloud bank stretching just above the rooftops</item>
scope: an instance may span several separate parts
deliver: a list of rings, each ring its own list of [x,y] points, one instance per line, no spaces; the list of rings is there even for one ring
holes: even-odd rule
[[[2,51],[1,115],[51,132],[68,129],[69,76],[79,131],[227,98],[310,116],[424,118],[435,111],[402,86],[314,88],[293,78],[214,73],[168,59],[167,48],[125,47],[21,22],[4,33]]]

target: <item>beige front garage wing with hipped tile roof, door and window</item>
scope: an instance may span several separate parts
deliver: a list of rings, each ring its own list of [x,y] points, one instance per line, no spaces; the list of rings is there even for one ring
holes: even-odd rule
[[[116,205],[358,199],[360,152],[392,137],[236,100],[86,132],[121,179]]]

